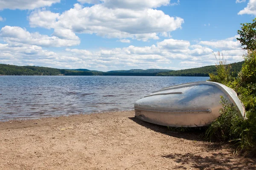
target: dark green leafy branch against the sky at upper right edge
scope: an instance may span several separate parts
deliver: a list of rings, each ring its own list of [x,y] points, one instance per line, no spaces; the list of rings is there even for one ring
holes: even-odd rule
[[[238,30],[237,33],[240,35],[237,40],[241,42],[243,47],[246,50],[255,50],[256,49],[256,20],[253,20],[253,23],[242,23],[241,30]]]

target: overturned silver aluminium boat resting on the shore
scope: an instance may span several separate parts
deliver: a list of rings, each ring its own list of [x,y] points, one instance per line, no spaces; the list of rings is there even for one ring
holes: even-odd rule
[[[218,82],[190,82],[154,91],[134,104],[135,117],[170,127],[200,127],[220,116],[223,96],[245,116],[244,105],[236,92]]]

